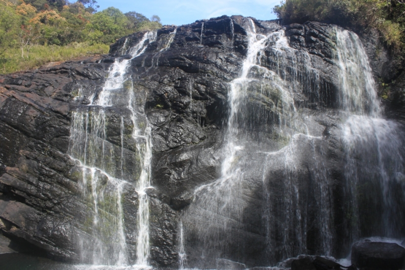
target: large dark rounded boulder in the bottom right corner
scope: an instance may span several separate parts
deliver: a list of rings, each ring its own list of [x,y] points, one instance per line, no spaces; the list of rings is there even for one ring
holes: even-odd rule
[[[351,262],[360,269],[402,269],[405,248],[395,243],[360,241],[351,249]]]

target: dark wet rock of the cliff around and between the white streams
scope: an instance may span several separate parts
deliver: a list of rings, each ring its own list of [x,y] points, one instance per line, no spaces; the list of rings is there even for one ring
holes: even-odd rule
[[[150,262],[154,266],[178,266],[179,216],[192,204],[197,186],[219,177],[224,127],[229,113],[229,83],[237,78],[246,57],[248,23],[248,19],[241,16],[223,16],[179,27],[165,26],[157,31],[156,42],[150,43],[143,54],[132,60],[131,84],[134,91],[140,93],[141,99],[137,102],[144,104],[151,124],[151,182],[154,189],[148,191],[148,196]],[[318,87],[314,87],[310,79],[300,81],[299,78],[305,78],[307,72],[300,68],[300,63],[295,59],[282,59],[282,65],[288,67],[286,70],[291,70],[284,74],[284,79],[290,78],[300,85],[293,96],[294,104],[311,119],[306,123],[311,134],[322,137],[317,141],[297,137],[302,148],[297,151],[298,166],[292,174],[298,179],[296,192],[299,200],[294,199],[297,201],[293,204],[299,205],[297,211],[307,213],[307,226],[301,228],[307,239],[305,253],[322,254],[317,238],[322,220],[314,199],[320,190],[314,189],[315,176],[311,174],[320,160],[309,158],[309,153],[315,151],[329,168],[331,179],[333,213],[329,214],[333,216],[334,227],[331,252],[335,256],[344,256],[351,243],[347,232],[352,229],[352,223],[347,218],[350,206],[345,203],[345,153],[338,128],[343,115],[337,110],[333,26],[308,22],[284,27],[276,21],[256,20],[254,24],[258,34],[285,29],[290,46],[297,50],[297,54],[305,54],[313,68],[319,70]],[[169,43],[169,35],[175,30],[173,42]],[[80,195],[82,172],[77,162],[67,155],[72,112],[85,109],[92,97],[100,93],[111,63],[116,57],[128,58],[123,54],[142,36],[143,33],[135,33],[121,38],[111,46],[109,56],[87,57],[0,76],[0,229],[3,235],[22,246],[35,246],[54,259],[80,260],[77,242],[78,238],[87,235],[84,220],[86,213],[92,210]],[[372,39],[368,36],[362,38]],[[273,60],[271,46],[269,44],[265,54],[261,55],[261,63],[276,72],[280,66]],[[377,47],[367,45],[374,75],[391,80],[389,75],[392,73],[384,73],[391,56],[383,47],[379,50],[384,55],[377,53]],[[393,95],[401,95],[402,81],[396,82],[397,90]],[[277,118],[273,116],[280,113],[273,106],[277,93],[264,89],[270,98],[258,98],[259,91],[254,83],[251,88],[248,102],[256,109],[255,113],[248,115],[252,125],[247,129],[257,132],[261,142],[258,148],[278,149],[283,143],[282,138],[270,132],[277,124],[274,120]],[[78,91],[84,93],[83,97],[78,98]],[[123,155],[132,157],[129,158],[131,162],[124,166],[131,168],[130,175],[136,176],[140,173],[136,160],[138,150],[128,139],[132,127],[124,106],[127,101],[119,93],[116,98],[122,99],[123,107],[106,112],[106,142],[113,151],[121,151],[119,130],[120,118],[123,117],[126,135]],[[392,103],[387,101],[387,111],[392,118],[403,119],[405,114],[400,102],[400,99],[393,99]],[[266,115],[271,121],[263,124],[258,115]],[[250,158],[257,159],[255,155]],[[282,181],[286,177],[284,165],[280,162],[272,166],[272,174],[264,177],[265,181],[263,175],[252,175],[246,184],[244,190],[248,204],[244,218],[229,239],[229,248],[219,257],[240,261],[247,267],[270,265],[285,259],[285,251],[277,247],[272,247],[270,259],[269,247],[266,246],[265,211],[271,209],[274,213],[271,221],[274,222],[274,231],[270,236],[274,241],[281,243],[283,234],[294,235],[296,229],[295,226],[280,227],[277,223],[285,217],[285,206],[280,205],[280,198],[288,196],[288,188]],[[266,201],[266,194],[274,199]],[[125,235],[133,263],[136,259],[137,207],[134,202],[137,195],[132,187],[128,187],[124,195]],[[290,222],[298,221],[292,218]],[[193,229],[197,228],[190,226],[190,232]],[[198,250],[199,242],[200,239],[191,234],[185,243],[190,252],[190,265],[202,256]],[[300,247],[294,247],[288,255],[295,256],[300,251]],[[215,265],[216,258],[211,258],[211,265]],[[307,261],[299,263],[307,265]],[[239,266],[235,267],[239,269]]]

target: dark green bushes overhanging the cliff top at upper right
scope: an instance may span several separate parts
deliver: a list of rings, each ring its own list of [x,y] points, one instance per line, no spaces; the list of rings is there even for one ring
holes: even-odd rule
[[[323,21],[353,28],[373,27],[395,50],[405,44],[403,0],[286,0],[273,11],[286,24]]]

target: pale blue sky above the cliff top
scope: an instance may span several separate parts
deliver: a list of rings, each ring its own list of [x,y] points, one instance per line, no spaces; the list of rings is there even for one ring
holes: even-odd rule
[[[108,7],[122,12],[136,11],[150,18],[158,15],[162,24],[188,24],[195,20],[222,15],[251,16],[260,20],[276,19],[272,9],[280,0],[97,0],[98,11]]]

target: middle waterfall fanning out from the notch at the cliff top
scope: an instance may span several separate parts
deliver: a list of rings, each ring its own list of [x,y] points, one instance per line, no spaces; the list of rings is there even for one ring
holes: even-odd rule
[[[309,136],[305,122],[296,113],[291,90],[283,80],[283,76],[286,76],[286,70],[282,69],[282,62],[285,58],[290,57],[290,60],[292,58],[294,61],[298,57],[307,59],[308,57],[305,57],[307,55],[304,57],[296,55],[298,51],[288,46],[284,31],[276,31],[265,36],[256,33],[252,20],[248,25],[247,57],[242,65],[239,78],[230,83],[228,93],[230,111],[225,131],[221,177],[213,183],[198,187],[194,192],[196,199],[184,214],[184,222],[198,224],[198,228],[190,234],[199,236],[201,247],[199,247],[200,250],[198,248],[196,250],[203,258],[198,264],[198,267],[202,268],[210,267],[209,265],[213,264],[215,258],[227,258],[229,256],[227,254],[232,252],[235,253],[232,259],[241,260],[244,257],[245,251],[239,249],[235,252],[232,250],[235,248],[232,245],[239,245],[237,242],[244,243],[244,236],[240,234],[244,226],[242,218],[248,200],[253,194],[252,190],[261,185],[261,183],[254,182],[253,179],[259,178],[259,175],[265,173],[267,163],[271,164],[270,161],[267,161],[267,156],[273,155],[274,150],[280,149],[291,140],[289,146],[291,149],[283,148],[282,153],[281,150],[276,152],[280,154],[278,156],[285,157],[282,163],[288,170],[289,166],[294,167],[294,160],[289,157],[294,156],[292,151],[297,146],[294,143],[295,137],[304,136],[309,140],[316,139],[316,137]],[[272,53],[277,59],[276,72],[260,65],[264,49],[269,45],[273,46]],[[310,62],[300,62],[299,65],[305,67],[303,70],[307,74],[316,77],[316,70],[310,66]],[[298,83],[301,78],[297,73],[295,73],[294,80]],[[261,103],[263,100],[265,104]],[[263,105],[265,105],[265,109],[261,108]],[[253,128],[258,123],[263,124],[261,130]],[[297,132],[300,135],[294,135]],[[270,144],[270,148],[262,143],[268,139],[266,138],[268,134],[271,134],[271,139],[276,141],[275,144]],[[269,152],[271,153],[269,154]],[[286,190],[289,190],[289,198],[286,202],[293,202],[291,197],[296,196],[294,190],[296,179],[293,175],[290,178],[286,180]],[[327,195],[325,194],[325,196]],[[295,199],[296,203],[297,200]],[[292,213],[290,208],[286,206],[288,215],[294,216],[290,218],[300,220],[299,211]],[[268,211],[267,213],[270,214]],[[287,227],[292,226],[288,219],[285,223]],[[189,226],[193,227],[191,224]],[[270,227],[268,229],[270,230]],[[325,234],[328,235],[328,232]],[[286,247],[284,249],[288,250],[287,246],[291,245],[293,239],[288,235],[285,238]],[[301,243],[302,238],[296,236],[294,240]],[[266,245],[271,246],[271,241],[268,242]],[[291,256],[294,253],[288,252],[285,255]]]

